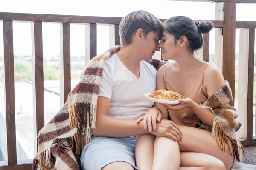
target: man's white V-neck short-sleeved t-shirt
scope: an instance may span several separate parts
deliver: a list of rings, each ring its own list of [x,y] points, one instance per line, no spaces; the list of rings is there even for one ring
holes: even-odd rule
[[[140,78],[122,64],[117,54],[105,61],[99,96],[111,99],[109,116],[136,120],[148,113],[154,102],[144,94],[156,90],[157,71],[148,62],[140,62]]]

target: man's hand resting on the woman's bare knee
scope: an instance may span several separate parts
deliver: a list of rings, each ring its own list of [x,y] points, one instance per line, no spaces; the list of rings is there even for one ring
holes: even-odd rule
[[[178,143],[182,141],[182,132],[180,128],[171,120],[163,119],[157,122],[157,130],[152,131],[155,136],[164,136]]]

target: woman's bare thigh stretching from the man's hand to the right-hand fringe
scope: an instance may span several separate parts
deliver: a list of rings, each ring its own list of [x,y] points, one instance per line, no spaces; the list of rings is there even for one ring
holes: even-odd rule
[[[221,160],[226,170],[233,167],[234,159],[230,156],[228,146],[226,152],[221,150],[211,132],[194,127],[179,126],[182,131],[182,142],[179,144],[180,151],[205,153]]]

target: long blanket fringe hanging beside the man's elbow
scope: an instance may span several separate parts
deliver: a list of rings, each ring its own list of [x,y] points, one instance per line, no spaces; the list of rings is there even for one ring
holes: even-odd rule
[[[81,144],[84,147],[90,141],[90,129],[96,127],[96,105],[76,103],[69,106],[69,125],[70,129],[77,128],[79,136],[76,136],[76,140],[81,138]]]

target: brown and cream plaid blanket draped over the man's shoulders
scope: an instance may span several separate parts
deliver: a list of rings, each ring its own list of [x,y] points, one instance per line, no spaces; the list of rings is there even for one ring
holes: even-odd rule
[[[33,170],[79,170],[81,150],[95,128],[99,85],[106,59],[120,50],[115,46],[94,57],[80,82],[70,91],[66,104],[38,133],[38,153]],[[158,70],[162,62],[147,61]]]

